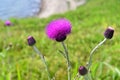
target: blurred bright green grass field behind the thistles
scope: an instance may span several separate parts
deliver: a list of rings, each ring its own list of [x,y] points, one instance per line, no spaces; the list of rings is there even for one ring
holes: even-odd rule
[[[66,61],[58,52],[62,46],[45,34],[47,23],[62,17],[69,19],[73,26],[65,41],[72,64],[72,78],[79,66],[86,65],[90,51],[104,39],[104,30],[112,26],[115,28],[114,37],[97,49],[91,72],[94,80],[120,80],[119,4],[120,0],[88,0],[75,11],[47,19],[10,19],[14,24],[11,27],[5,27],[0,21],[0,80],[47,80],[42,61],[27,45],[29,35],[36,39],[36,46],[45,56],[52,76],[56,80],[67,80]]]

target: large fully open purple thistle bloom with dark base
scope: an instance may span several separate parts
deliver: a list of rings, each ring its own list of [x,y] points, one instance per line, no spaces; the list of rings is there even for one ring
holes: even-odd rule
[[[64,18],[51,21],[46,27],[46,34],[50,39],[62,42],[71,33],[71,23]]]

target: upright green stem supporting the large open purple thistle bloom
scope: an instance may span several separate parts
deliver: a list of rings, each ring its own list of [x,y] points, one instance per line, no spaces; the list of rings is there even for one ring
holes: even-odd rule
[[[64,51],[65,51],[65,55],[66,55],[66,60],[67,60],[67,71],[68,71],[68,80],[71,80],[71,64],[70,64],[70,60],[69,60],[69,55],[68,55],[68,50],[67,50],[67,47],[65,46],[64,42],[62,42],[62,46],[64,48]]]

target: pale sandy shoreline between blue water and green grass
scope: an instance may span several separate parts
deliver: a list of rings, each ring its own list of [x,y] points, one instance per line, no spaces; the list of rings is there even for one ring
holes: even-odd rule
[[[62,14],[86,3],[86,0],[41,0],[40,11],[37,14],[39,18],[47,18],[54,14]],[[62,6],[61,6],[62,4]]]

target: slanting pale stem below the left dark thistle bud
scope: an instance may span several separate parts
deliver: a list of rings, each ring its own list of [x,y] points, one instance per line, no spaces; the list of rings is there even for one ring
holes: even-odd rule
[[[40,56],[42,62],[43,62],[44,65],[45,65],[46,71],[47,71],[47,73],[48,73],[48,80],[51,80],[51,75],[50,75],[50,72],[49,72],[49,69],[48,69],[48,66],[47,66],[47,63],[46,63],[46,61],[45,61],[44,56],[42,55],[42,53],[38,50],[38,48],[37,48],[35,45],[33,45],[33,49],[34,49],[34,50],[36,51],[36,53]]]

